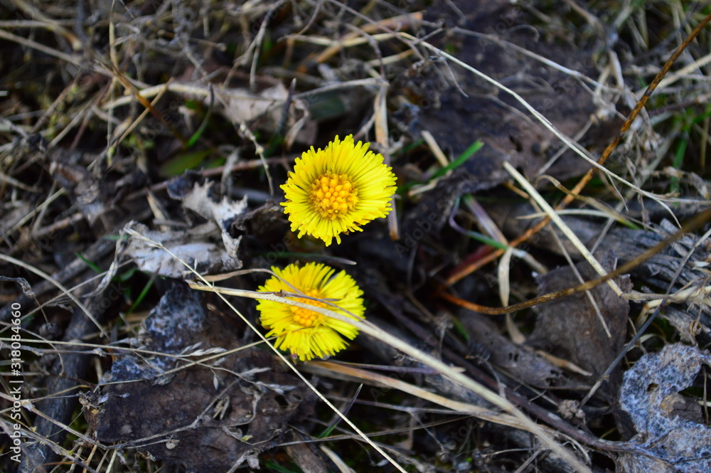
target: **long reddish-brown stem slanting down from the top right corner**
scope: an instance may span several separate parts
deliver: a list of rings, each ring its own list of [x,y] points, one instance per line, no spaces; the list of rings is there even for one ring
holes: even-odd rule
[[[619,133],[617,134],[614,139],[610,142],[610,144],[607,145],[607,147],[604,149],[602,152],[602,155],[600,156],[600,159],[598,159],[597,164],[602,166],[605,161],[609,158],[610,154],[614,151],[614,149],[617,147],[617,145],[620,144],[622,141],[622,138],[626,134],[627,130],[629,130],[629,127],[631,126],[632,122],[637,118],[639,115],[639,112],[641,112],[642,108],[644,105],[646,105],[647,100],[649,100],[649,97],[651,97],[652,93],[656,89],[657,85],[661,82],[661,80],[664,78],[668,70],[671,68],[671,65],[675,63],[675,61],[679,58],[681,53],[686,49],[686,47],[691,43],[691,41],[696,38],[696,36],[702,31],[703,28],[706,27],[706,25],[711,21],[711,14],[707,15],[700,23],[694,28],[694,30],[689,34],[689,36],[684,40],[683,43],[674,51],[674,53],[671,55],[671,57],[667,60],[666,63],[664,63],[663,68],[657,73],[655,76],[654,80],[652,80],[652,83],[647,87],[647,90],[645,90],[644,94],[640,97],[640,99],[637,102],[637,105],[635,105],[634,110],[629,114],[629,117],[625,120],[624,124],[622,124],[622,127],[620,128]],[[577,194],[579,194],[582,189],[587,186],[587,183],[592,179],[592,176],[594,176],[595,173],[595,168],[589,169],[587,173],[580,179],[578,184],[572,189],[571,193],[565,196],[563,200],[555,206],[555,210],[559,211],[562,208],[565,208],[568,206],[575,198]],[[540,230],[542,230],[545,225],[547,225],[550,222],[550,218],[545,217],[540,222],[538,222],[536,225],[533,227],[529,228],[528,230],[523,233],[523,235],[520,235],[518,238],[515,240],[511,241],[510,245],[515,247],[520,245],[521,243],[525,242],[529,238],[531,238],[533,235],[538,233]],[[449,278],[447,279],[447,285],[451,286],[455,282],[461,280],[463,277],[466,277],[466,275],[471,274],[472,272],[478,270],[480,267],[483,265],[488,264],[489,262],[496,260],[499,256],[503,254],[503,250],[499,249],[496,250],[495,252],[486,255],[485,257],[481,258],[481,260],[476,261],[473,265],[467,268],[463,268],[456,274],[450,275]]]

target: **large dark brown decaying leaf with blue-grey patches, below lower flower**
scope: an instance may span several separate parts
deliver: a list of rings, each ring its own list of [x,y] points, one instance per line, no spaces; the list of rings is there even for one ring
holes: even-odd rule
[[[304,392],[268,351],[232,350],[188,366],[177,358],[201,346],[236,349],[229,321],[206,313],[198,293],[176,286],[164,295],[131,344],[102,379],[93,425],[101,442],[148,452],[188,472],[258,468],[298,413]]]

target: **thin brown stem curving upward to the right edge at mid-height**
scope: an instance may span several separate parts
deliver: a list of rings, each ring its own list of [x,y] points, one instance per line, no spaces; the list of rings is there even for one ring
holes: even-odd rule
[[[508,314],[509,312],[516,312],[519,310],[528,309],[528,307],[533,307],[544,302],[550,302],[555,299],[560,299],[561,297],[567,297],[572,294],[577,294],[578,292],[587,291],[588,289],[592,289],[597,285],[602,284],[603,282],[611,280],[614,277],[624,275],[626,272],[633,270],[638,265],[641,265],[643,262],[659,253],[667,245],[673,243],[674,240],[677,240],[678,238],[682,237],[684,233],[688,233],[692,230],[695,230],[696,228],[699,228],[701,225],[704,225],[709,221],[711,221],[711,208],[707,208],[702,213],[699,213],[697,216],[689,220],[688,223],[685,223],[685,225],[683,225],[682,228],[680,228],[676,233],[668,236],[664,240],[661,240],[661,242],[657,243],[652,248],[646,250],[644,253],[634,258],[634,260],[626,262],[624,265],[621,265],[616,270],[609,272],[605,276],[598,277],[597,279],[586,282],[585,284],[579,286],[563,289],[562,291],[543,294],[542,296],[536,297],[535,299],[530,299],[526,302],[513,304],[508,307],[487,307],[475,304],[474,302],[465,301],[464,299],[460,299],[459,297],[454,297],[453,295],[448,294],[447,292],[441,292],[439,295],[443,299],[447,299],[449,302],[459,305],[460,307],[464,307],[465,309],[473,310],[475,312],[481,312],[481,314],[503,315]]]

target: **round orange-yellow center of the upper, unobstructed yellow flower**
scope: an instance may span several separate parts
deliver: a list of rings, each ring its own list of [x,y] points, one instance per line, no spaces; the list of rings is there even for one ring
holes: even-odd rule
[[[326,172],[311,186],[311,203],[321,217],[334,220],[353,210],[358,203],[358,189],[348,175]]]

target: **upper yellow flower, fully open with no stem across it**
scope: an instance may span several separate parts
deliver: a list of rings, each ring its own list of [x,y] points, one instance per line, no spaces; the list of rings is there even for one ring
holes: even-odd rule
[[[383,155],[368,151],[370,143],[353,143],[349,134],[338,136],[326,149],[309,151],[296,158],[282,189],[287,201],[292,232],[299,230],[331,245],[341,233],[361,231],[360,225],[387,216],[395,193],[395,174],[383,164]]]

